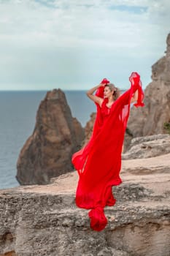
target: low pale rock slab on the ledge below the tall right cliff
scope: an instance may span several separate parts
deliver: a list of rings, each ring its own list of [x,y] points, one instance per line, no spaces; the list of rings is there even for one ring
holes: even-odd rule
[[[150,135],[131,140],[122,159],[157,157],[170,153],[170,135]]]

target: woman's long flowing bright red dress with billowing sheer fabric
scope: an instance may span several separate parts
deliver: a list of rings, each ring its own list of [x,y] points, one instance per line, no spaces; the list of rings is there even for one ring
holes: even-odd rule
[[[116,202],[112,186],[122,182],[121,152],[131,97],[136,90],[139,96],[134,105],[144,105],[139,74],[132,72],[129,80],[131,88],[115,100],[112,108],[107,108],[108,99],[104,99],[101,107],[96,104],[96,121],[90,141],[72,156],[72,163],[79,173],[76,204],[80,208],[91,209],[88,214],[90,227],[96,231],[103,230],[107,225],[104,207],[113,206]],[[98,88],[96,95],[104,98],[104,86]]]

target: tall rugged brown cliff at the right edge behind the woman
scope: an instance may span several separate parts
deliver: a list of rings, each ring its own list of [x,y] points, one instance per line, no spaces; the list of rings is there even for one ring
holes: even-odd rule
[[[133,137],[164,133],[170,122],[170,34],[166,56],[152,66],[152,82],[144,91],[144,108],[131,108],[128,129]]]

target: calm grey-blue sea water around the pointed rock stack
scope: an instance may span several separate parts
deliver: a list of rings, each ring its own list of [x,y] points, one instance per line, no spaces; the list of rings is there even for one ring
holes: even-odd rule
[[[39,103],[47,91],[0,91],[0,189],[17,187],[16,162],[23,144],[32,134]],[[83,127],[96,106],[85,91],[65,91],[67,102]]]

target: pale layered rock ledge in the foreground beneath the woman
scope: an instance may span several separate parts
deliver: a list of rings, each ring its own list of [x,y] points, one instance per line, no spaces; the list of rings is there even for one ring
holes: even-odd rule
[[[0,191],[0,254],[18,256],[169,256],[170,154],[123,160],[123,184],[100,233],[77,208],[77,173],[44,186]]]

